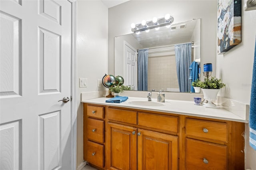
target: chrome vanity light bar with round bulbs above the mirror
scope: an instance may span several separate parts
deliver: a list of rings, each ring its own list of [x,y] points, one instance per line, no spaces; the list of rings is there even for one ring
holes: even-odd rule
[[[156,20],[156,18],[153,18],[152,21],[148,21],[146,22],[145,20],[142,21],[141,24],[134,24],[132,23],[131,27],[132,27],[132,32],[140,32],[140,31],[144,31],[144,30],[148,30],[148,29],[152,29],[152,28],[157,28],[160,26],[167,26],[172,24],[174,21],[174,18],[172,16],[170,16],[170,14],[166,14],[165,17],[163,18],[158,18]]]

